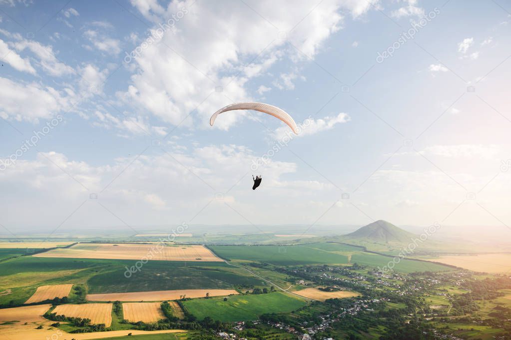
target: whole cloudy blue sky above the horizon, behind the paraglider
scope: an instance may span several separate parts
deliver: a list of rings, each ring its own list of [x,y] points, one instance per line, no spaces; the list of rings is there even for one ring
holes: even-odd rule
[[[385,219],[509,232],[503,1],[0,0],[0,9],[8,230]],[[307,125],[255,172],[286,127],[244,111],[208,125],[243,101]],[[252,174],[263,175],[255,191]]]

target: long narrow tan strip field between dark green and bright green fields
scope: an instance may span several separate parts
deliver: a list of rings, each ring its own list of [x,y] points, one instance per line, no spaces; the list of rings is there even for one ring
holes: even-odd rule
[[[179,300],[183,295],[187,298],[204,298],[210,296],[225,296],[238,294],[234,289],[179,289],[153,290],[152,292],[88,294],[89,301],[167,301]]]

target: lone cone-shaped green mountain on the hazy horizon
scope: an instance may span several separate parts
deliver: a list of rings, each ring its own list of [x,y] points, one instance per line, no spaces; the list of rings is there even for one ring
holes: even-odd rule
[[[412,238],[416,237],[419,236],[398,228],[393,224],[383,220],[373,222],[357,229],[350,234],[343,235],[343,238],[346,240],[360,239],[369,242],[377,242],[380,244],[407,244],[411,241]]]

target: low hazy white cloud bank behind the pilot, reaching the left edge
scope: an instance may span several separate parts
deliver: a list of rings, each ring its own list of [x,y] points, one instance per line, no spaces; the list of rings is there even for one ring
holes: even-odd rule
[[[7,218],[4,223],[37,223],[38,227],[41,227],[57,223],[54,218],[61,220],[58,222],[60,223],[64,218],[60,214],[42,212],[56,212],[56,204],[60,212],[74,211],[88,199],[90,192],[101,192],[101,204],[129,225],[146,226],[162,219],[166,223],[190,221],[190,218],[206,205],[208,207],[197,216],[194,223],[212,221],[211,218],[221,218],[221,221],[226,223],[240,222],[239,214],[225,206],[225,202],[248,220],[278,223],[284,222],[282,218],[288,216],[282,215],[282,207],[268,202],[266,195],[285,198],[289,211],[293,210],[293,202],[311,200],[321,192],[328,193],[327,200],[330,196],[337,195],[337,189],[333,190],[331,184],[308,179],[284,179],[287,174],[296,172],[297,165],[270,161],[258,170],[263,174],[262,185],[266,193],[254,197],[252,179],[251,176],[246,176],[246,173],[250,168],[249,164],[257,157],[246,147],[207,145],[195,147],[187,154],[171,150],[167,152],[142,154],[136,159],[133,156],[118,158],[111,163],[100,165],[69,159],[57,152],[38,153],[35,160],[18,159],[15,165],[0,172],[0,189],[6,190],[12,183],[16,183],[20,191],[32,193],[29,197],[0,197],[2,213],[8,209],[7,202],[10,207],[14,204],[11,214],[4,214],[12,217]],[[103,190],[105,187],[107,189]],[[304,193],[304,187],[308,189],[307,193]],[[216,192],[229,189],[226,200],[212,202]],[[97,202],[88,200],[69,223],[78,226],[122,224],[116,218],[112,219],[112,215],[98,206]],[[22,209],[30,209],[33,213],[20,214],[24,211]],[[155,216],[154,209],[161,214]],[[264,218],[258,218],[261,210],[265,211]],[[312,223],[316,218],[312,215],[317,216],[324,212],[322,208],[312,210],[314,213],[309,210],[311,216],[303,221]]]

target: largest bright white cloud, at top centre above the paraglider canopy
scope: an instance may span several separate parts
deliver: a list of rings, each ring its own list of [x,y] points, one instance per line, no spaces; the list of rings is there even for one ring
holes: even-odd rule
[[[330,35],[341,28],[341,11],[358,17],[376,1],[326,0],[303,21],[300,20],[310,12],[308,2],[288,6],[266,0],[251,4],[252,9],[242,2],[189,0],[171,2],[167,8],[154,1],[132,0],[131,3],[154,23],[153,33],[173,15],[180,13],[182,18],[174,22],[158,43],[132,61],[137,66],[132,84],[124,93],[118,93],[119,98],[176,125],[195,110],[182,125],[191,126],[195,121],[205,127],[208,115],[219,107],[231,101],[252,100],[247,82],[277,60],[291,58],[309,62],[303,53],[314,58]],[[287,40],[279,38],[279,32],[288,32]],[[247,62],[248,67],[244,66]],[[237,74],[233,70],[241,72]],[[279,78],[278,84],[292,87],[291,78],[292,75]],[[223,91],[215,92],[216,86],[222,86]],[[228,129],[242,117],[230,115],[222,119],[219,127]]]

